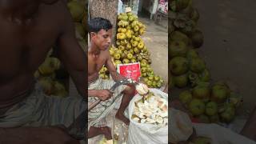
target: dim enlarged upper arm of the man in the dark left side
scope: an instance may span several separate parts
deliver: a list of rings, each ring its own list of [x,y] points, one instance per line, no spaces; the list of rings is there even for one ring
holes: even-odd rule
[[[74,23],[70,12],[66,8],[63,13],[65,19],[63,19],[62,34],[58,38],[58,56],[73,79],[79,94],[86,97],[86,53],[75,38]]]

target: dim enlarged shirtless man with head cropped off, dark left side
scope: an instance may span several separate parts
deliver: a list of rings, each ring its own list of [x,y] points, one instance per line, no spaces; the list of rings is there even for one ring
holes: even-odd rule
[[[77,102],[82,114],[87,107],[82,97],[60,100],[34,90],[34,72],[54,44],[58,45],[58,56],[79,93],[86,97],[86,54],[75,39],[66,2],[0,0],[0,143],[78,143],[65,129],[54,125],[74,125],[71,123],[75,122],[74,114],[73,119],[66,119],[71,114],[60,113],[58,108],[78,110],[72,107],[74,104],[69,107],[64,104]],[[51,119],[57,118],[54,113],[63,119]],[[35,118],[37,114],[41,116]],[[42,123],[36,124],[37,121]],[[30,126],[32,123],[36,127]]]

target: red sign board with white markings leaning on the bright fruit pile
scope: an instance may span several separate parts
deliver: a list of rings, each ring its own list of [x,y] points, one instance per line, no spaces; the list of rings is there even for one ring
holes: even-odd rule
[[[138,81],[138,78],[141,76],[139,62],[120,64],[117,67],[118,73],[126,78],[131,78],[135,81]]]

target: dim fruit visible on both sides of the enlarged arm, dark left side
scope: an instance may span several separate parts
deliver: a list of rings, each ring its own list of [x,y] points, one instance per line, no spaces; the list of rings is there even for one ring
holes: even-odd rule
[[[67,2],[67,7],[73,18],[76,38],[83,50],[87,47],[87,32],[86,32],[86,2],[83,0],[70,0]],[[65,98],[72,95],[75,90],[73,82],[69,74],[58,59],[57,51],[54,46],[47,54],[47,58],[38,67],[34,77],[42,86],[45,94]],[[70,83],[72,85],[70,85]],[[73,89],[70,89],[73,88]]]

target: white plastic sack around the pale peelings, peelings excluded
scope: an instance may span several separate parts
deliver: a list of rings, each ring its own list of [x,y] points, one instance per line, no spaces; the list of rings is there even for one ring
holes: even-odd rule
[[[163,93],[158,89],[150,89],[155,95],[158,95],[168,101],[168,94]],[[134,102],[137,102],[142,97],[137,94],[129,104],[129,135],[128,144],[167,144],[168,143],[168,126],[156,126],[147,123],[137,123],[131,119],[134,111]]]

